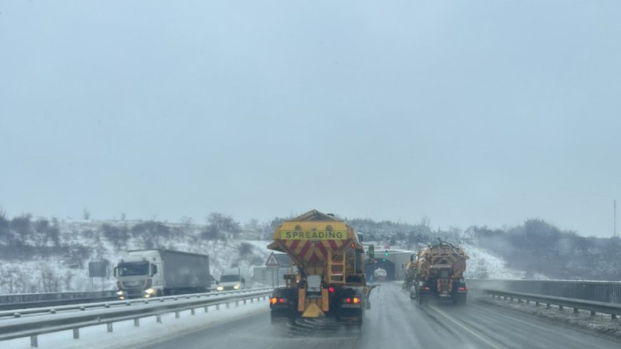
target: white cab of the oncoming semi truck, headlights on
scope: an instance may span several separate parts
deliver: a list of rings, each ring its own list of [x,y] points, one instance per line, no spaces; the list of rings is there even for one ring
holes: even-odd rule
[[[137,251],[114,268],[118,298],[162,295],[161,256],[157,251]]]

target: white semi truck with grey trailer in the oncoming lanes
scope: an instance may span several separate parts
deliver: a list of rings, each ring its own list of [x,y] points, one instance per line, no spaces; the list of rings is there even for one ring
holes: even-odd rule
[[[209,256],[171,250],[128,251],[114,268],[119,299],[211,290]]]

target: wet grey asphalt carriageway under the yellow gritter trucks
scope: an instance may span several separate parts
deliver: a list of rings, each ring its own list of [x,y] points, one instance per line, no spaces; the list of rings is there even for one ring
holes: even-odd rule
[[[149,349],[248,348],[621,348],[621,340],[468,300],[420,306],[394,284],[371,293],[361,330],[273,326],[268,312],[224,323]]]

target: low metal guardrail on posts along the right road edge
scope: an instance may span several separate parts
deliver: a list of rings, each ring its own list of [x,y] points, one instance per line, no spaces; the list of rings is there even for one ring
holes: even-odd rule
[[[617,315],[621,315],[621,305],[596,302],[593,300],[580,300],[575,298],[508,292],[501,290],[483,290],[483,293],[492,295],[493,297],[503,298],[505,300],[515,299],[518,300],[518,302],[525,300],[527,303],[535,302],[535,305],[542,303],[546,305],[546,308],[550,308],[551,305],[557,305],[559,310],[563,310],[565,307],[573,308],[574,313],[577,313],[578,310],[588,310],[591,312],[591,316],[595,316],[596,313],[610,314],[613,320],[617,318]]]

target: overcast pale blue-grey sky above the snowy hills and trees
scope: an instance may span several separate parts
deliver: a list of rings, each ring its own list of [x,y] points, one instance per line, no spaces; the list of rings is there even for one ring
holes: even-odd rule
[[[0,206],[610,236],[620,18],[618,0],[3,0]]]

